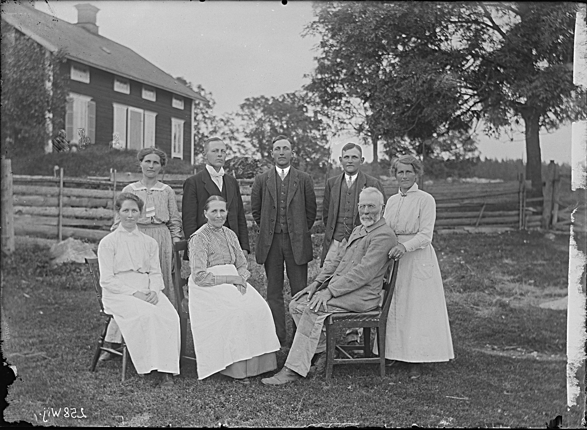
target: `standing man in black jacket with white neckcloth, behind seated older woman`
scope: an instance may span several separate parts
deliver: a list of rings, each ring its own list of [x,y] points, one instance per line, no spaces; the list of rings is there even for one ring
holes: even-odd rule
[[[234,176],[224,173],[226,145],[219,137],[211,137],[204,143],[206,168],[190,176],[184,182],[184,195],[181,202],[181,221],[185,239],[208,221],[204,216],[205,201],[211,195],[221,195],[227,201],[228,216],[224,226],[237,233],[245,257],[251,252],[247,219],[242,205],[241,190]],[[187,260],[187,252],[184,255]]]

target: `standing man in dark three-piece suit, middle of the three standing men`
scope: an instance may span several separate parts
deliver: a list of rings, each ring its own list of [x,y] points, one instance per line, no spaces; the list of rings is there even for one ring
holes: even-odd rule
[[[255,255],[265,265],[267,302],[281,346],[287,342],[284,304],[284,262],[292,296],[308,283],[312,261],[310,229],[316,219],[316,194],[310,175],[291,167],[291,138],[277,136],[271,156],[275,168],[255,177],[251,211],[259,226]]]

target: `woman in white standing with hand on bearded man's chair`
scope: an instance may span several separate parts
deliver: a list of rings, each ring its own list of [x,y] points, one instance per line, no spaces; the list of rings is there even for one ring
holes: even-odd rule
[[[399,259],[396,289],[387,316],[385,357],[408,363],[410,379],[421,375],[420,363],[454,358],[444,288],[432,232],[436,202],[418,189],[421,161],[412,155],[393,158],[390,175],[400,185],[383,213],[397,235],[389,258]]]

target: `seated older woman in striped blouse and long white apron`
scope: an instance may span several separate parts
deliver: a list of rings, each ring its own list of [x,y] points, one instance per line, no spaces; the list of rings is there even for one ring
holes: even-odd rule
[[[280,348],[269,305],[247,283],[248,263],[237,235],[224,227],[226,201],[205,203],[208,223],[189,242],[191,331],[198,379],[220,372],[242,384],[277,368]]]

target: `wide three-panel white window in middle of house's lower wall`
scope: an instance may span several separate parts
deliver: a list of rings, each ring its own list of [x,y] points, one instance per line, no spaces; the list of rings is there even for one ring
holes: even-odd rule
[[[113,141],[118,136],[119,149],[140,150],[155,144],[155,118],[157,114],[125,104],[113,103]]]

